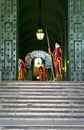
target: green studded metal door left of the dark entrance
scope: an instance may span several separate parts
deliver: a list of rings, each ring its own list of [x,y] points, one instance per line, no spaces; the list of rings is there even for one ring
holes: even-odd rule
[[[17,0],[0,0],[0,72],[2,80],[17,79]]]

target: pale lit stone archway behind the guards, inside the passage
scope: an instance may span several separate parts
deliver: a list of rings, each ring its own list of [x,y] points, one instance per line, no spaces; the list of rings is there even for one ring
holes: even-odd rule
[[[28,70],[28,80],[33,80],[33,68],[32,68],[32,63],[35,59],[42,59],[41,62],[45,62],[46,67],[48,68],[48,80],[53,80],[52,79],[52,63],[51,63],[51,56],[44,51],[41,50],[35,50],[30,53],[28,53],[25,56],[25,62],[27,64],[27,70]],[[34,63],[33,63],[34,64]],[[42,64],[42,63],[41,63]],[[39,66],[37,67],[39,68]],[[35,71],[36,73],[36,71]],[[37,72],[38,73],[38,72]],[[35,74],[35,79],[37,79],[37,74]]]

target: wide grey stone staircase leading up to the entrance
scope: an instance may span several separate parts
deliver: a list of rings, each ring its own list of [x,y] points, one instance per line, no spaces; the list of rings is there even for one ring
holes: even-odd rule
[[[0,130],[84,130],[84,83],[0,82]]]

